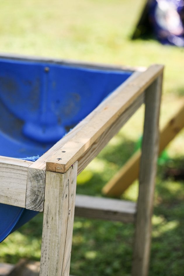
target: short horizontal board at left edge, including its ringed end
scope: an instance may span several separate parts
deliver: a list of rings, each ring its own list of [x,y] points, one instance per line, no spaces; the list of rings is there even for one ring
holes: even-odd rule
[[[34,162],[0,156],[0,203],[43,211],[45,171]]]

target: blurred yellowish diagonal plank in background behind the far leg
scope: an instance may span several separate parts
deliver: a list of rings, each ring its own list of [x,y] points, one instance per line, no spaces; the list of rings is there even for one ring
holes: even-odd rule
[[[175,138],[184,127],[184,100],[179,111],[160,131],[159,153]],[[103,187],[105,195],[120,196],[138,178],[141,150],[137,150],[126,164]]]

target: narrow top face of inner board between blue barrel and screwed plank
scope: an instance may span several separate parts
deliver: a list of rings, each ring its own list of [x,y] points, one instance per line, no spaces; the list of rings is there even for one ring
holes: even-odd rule
[[[131,77],[129,77],[122,85],[123,88],[128,84],[131,80],[136,78],[138,75],[140,75],[140,72],[134,72]],[[116,97],[116,95],[119,93],[119,91],[114,91],[108,98],[106,98],[98,107],[96,107],[95,110],[93,110],[85,119],[83,119],[77,126],[75,126],[67,135],[65,135],[61,140],[59,140],[50,150],[48,150],[44,155],[42,155],[38,160],[36,160],[30,167],[35,169],[42,169],[46,170],[46,162],[50,157],[53,155],[56,155],[59,153],[60,155],[63,155],[63,152],[61,148],[83,128],[85,128],[86,124],[90,122],[90,120],[96,116],[100,112],[100,110],[103,110],[107,105],[110,105],[112,100]]]

